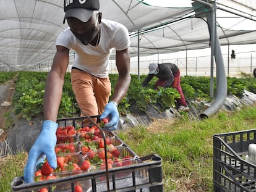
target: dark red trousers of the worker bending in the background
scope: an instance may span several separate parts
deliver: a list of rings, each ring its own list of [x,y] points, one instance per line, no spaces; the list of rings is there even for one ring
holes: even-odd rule
[[[165,82],[166,80],[158,79],[158,81],[156,81],[156,89],[158,86],[164,86]],[[174,81],[171,86],[175,88],[179,92],[179,94],[181,94],[181,98],[177,99],[178,104],[181,106],[187,106],[187,102],[181,88],[181,72],[179,70],[177,73],[174,74]]]

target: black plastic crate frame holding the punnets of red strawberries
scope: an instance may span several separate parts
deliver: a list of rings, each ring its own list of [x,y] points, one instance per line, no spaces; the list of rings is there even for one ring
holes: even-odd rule
[[[72,117],[69,119],[58,119],[59,127],[66,125],[93,126],[96,125],[92,121],[90,125],[83,125],[83,119],[91,117]],[[99,116],[92,116],[100,122]],[[105,132],[105,131],[104,131]],[[118,138],[115,133],[105,132],[106,137]],[[132,164],[123,167],[114,167],[108,170],[96,170],[94,172],[83,172],[76,175],[68,175],[66,177],[56,178],[54,180],[45,180],[35,183],[24,183],[23,177],[15,177],[12,180],[12,191],[38,191],[41,188],[48,188],[51,192],[69,192],[75,191],[75,185],[82,185],[85,192],[163,192],[163,174],[161,157],[151,154],[145,157],[139,157],[118,138],[123,144],[119,148],[126,148],[132,159]],[[125,154],[125,152],[122,152]]]

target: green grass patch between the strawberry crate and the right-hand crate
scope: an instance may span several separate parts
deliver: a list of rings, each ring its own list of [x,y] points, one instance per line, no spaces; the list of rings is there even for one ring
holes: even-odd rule
[[[213,135],[256,128],[256,108],[205,120],[161,119],[117,135],[139,156],[163,159],[164,191],[213,191]]]

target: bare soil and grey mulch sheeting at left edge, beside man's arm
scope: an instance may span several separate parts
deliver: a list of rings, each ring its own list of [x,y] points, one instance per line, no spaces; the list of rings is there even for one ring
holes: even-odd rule
[[[15,93],[15,77],[13,80],[0,85],[0,157],[7,153],[29,151],[35,142],[41,128],[42,115],[37,115],[29,122],[16,117],[12,104],[2,106],[4,102],[12,101]],[[9,112],[9,115],[5,115]],[[11,120],[10,120],[11,119]]]

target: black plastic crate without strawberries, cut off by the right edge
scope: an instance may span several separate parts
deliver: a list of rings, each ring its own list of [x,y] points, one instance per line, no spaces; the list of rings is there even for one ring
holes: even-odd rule
[[[256,166],[245,161],[256,129],[213,135],[215,191],[256,191]]]

